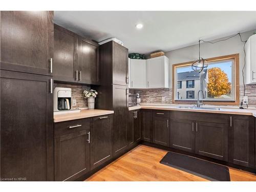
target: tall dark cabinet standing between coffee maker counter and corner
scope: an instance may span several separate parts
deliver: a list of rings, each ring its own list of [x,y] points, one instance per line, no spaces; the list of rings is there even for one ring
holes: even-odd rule
[[[128,49],[109,41],[99,47],[101,86],[97,87],[97,109],[114,110],[113,156],[128,148]]]

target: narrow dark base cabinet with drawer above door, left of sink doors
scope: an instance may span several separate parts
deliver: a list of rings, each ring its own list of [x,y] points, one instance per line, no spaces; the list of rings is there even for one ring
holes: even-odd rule
[[[153,142],[156,144],[170,145],[170,120],[169,111],[154,110],[153,113]]]

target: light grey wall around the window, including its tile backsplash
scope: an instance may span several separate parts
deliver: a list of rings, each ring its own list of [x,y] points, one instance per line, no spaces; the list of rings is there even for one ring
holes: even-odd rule
[[[241,33],[242,40],[247,40],[249,36],[256,32],[256,30]],[[189,35],[189,34],[188,34]],[[221,38],[221,39],[225,39]],[[207,39],[205,39],[207,40]],[[217,41],[211,40],[211,41]],[[243,95],[243,76],[242,68],[244,65],[244,51],[243,42],[240,37],[236,36],[226,41],[217,42],[216,44],[202,43],[201,44],[201,56],[205,59],[211,57],[218,57],[224,55],[231,55],[239,53],[239,79],[240,79],[240,98]],[[198,59],[198,45],[188,46],[185,48],[166,52],[165,55],[169,58],[169,84],[172,87],[172,65],[182,62],[188,62]],[[156,93],[154,93],[156,91]],[[141,102],[161,102],[161,97],[165,97],[164,103],[172,103],[172,88],[170,89],[157,89],[157,90],[133,90],[133,93],[141,94]],[[248,96],[249,105],[256,105],[256,85],[246,86],[245,90]]]

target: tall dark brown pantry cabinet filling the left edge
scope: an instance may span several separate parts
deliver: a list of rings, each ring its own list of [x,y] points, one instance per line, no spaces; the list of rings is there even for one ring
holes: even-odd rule
[[[0,12],[4,180],[53,180],[53,11]]]

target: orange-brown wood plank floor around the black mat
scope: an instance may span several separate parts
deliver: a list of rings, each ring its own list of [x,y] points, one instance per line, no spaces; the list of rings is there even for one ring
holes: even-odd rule
[[[160,164],[166,151],[139,145],[86,181],[207,181]],[[231,181],[256,181],[256,175],[229,167]]]

